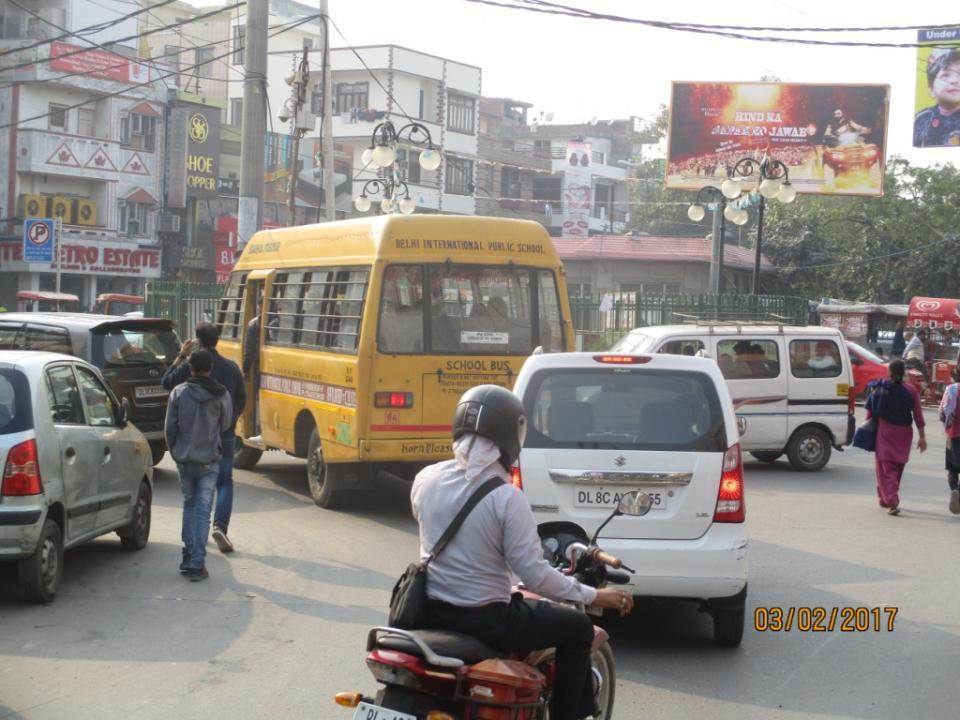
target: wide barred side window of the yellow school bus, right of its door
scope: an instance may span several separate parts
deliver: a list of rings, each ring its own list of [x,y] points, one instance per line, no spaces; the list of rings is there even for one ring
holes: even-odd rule
[[[267,308],[266,342],[355,354],[368,268],[277,273]]]

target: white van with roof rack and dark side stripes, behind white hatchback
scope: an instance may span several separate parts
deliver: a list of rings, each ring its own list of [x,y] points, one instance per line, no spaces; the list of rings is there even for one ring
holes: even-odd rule
[[[853,439],[850,356],[839,330],[788,325],[638,328],[615,353],[702,355],[727,382],[742,448],[762,462],[786,453],[796,470],[820,470]]]

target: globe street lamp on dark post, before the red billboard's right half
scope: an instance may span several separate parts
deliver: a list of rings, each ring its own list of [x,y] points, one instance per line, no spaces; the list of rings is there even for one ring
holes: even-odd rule
[[[754,185],[754,187],[749,187]],[[797,198],[797,191],[790,184],[790,171],[781,161],[764,153],[760,160],[753,157],[741,158],[733,166],[730,176],[720,185],[720,191],[732,201],[727,209],[733,209],[742,225],[747,221],[746,208],[757,205],[757,247],[753,259],[753,294],[760,293],[760,252],[763,246],[763,212],[767,200],[776,198],[784,204]],[[724,211],[726,215],[726,210]],[[728,219],[734,218],[727,215]],[[736,220],[734,220],[736,222]]]

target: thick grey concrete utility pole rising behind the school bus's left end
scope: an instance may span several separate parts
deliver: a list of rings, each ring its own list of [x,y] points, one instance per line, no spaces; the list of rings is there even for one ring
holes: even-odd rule
[[[243,129],[240,139],[240,249],[260,229],[263,218],[263,146],[267,135],[267,16],[269,0],[247,2],[243,47]]]

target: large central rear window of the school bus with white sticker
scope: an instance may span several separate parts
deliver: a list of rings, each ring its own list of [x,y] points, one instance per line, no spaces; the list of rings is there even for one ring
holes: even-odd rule
[[[529,353],[531,271],[435,265],[430,272],[433,352]]]

